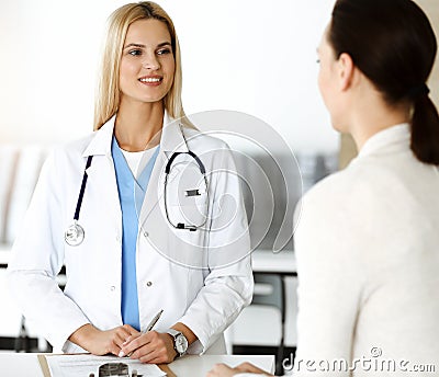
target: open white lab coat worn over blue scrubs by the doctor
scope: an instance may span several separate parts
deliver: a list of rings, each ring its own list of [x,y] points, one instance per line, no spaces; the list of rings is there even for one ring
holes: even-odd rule
[[[108,330],[122,324],[122,212],[111,155],[113,128],[114,118],[100,130],[49,156],[8,267],[12,296],[25,317],[55,350],[68,353],[82,351],[67,340],[79,327],[92,323]],[[207,230],[194,232],[172,228],[164,206],[166,162],[173,151],[188,151],[188,147],[205,165],[207,205],[205,193],[196,198],[184,197],[181,187],[175,185],[179,182],[180,186],[185,185],[183,188],[194,188],[193,181],[185,182],[188,176],[201,176],[188,155],[175,161],[167,197],[172,222],[201,224],[196,222],[198,210],[209,210],[204,225]],[[86,237],[80,245],[70,247],[64,241],[64,232],[72,224],[88,156],[93,156],[93,160],[87,170],[79,216]],[[184,169],[189,173],[181,173]],[[199,338],[189,353],[207,349],[210,353],[224,353],[223,331],[252,296],[247,218],[234,172],[232,153],[223,141],[181,128],[176,122],[164,127],[160,152],[139,216],[139,319],[144,329],[164,309],[157,331],[176,322],[188,325]],[[195,218],[182,218],[187,214]],[[67,274],[64,293],[55,279],[63,265]]]

